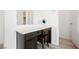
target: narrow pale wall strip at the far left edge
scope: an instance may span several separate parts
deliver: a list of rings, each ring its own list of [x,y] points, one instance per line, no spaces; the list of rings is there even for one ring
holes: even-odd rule
[[[4,11],[0,10],[0,43],[4,41]]]

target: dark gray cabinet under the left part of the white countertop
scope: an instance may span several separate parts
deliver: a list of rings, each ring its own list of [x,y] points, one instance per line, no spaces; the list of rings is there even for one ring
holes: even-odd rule
[[[37,36],[40,32],[31,32],[28,34],[17,34],[17,49],[35,49],[37,48]]]

